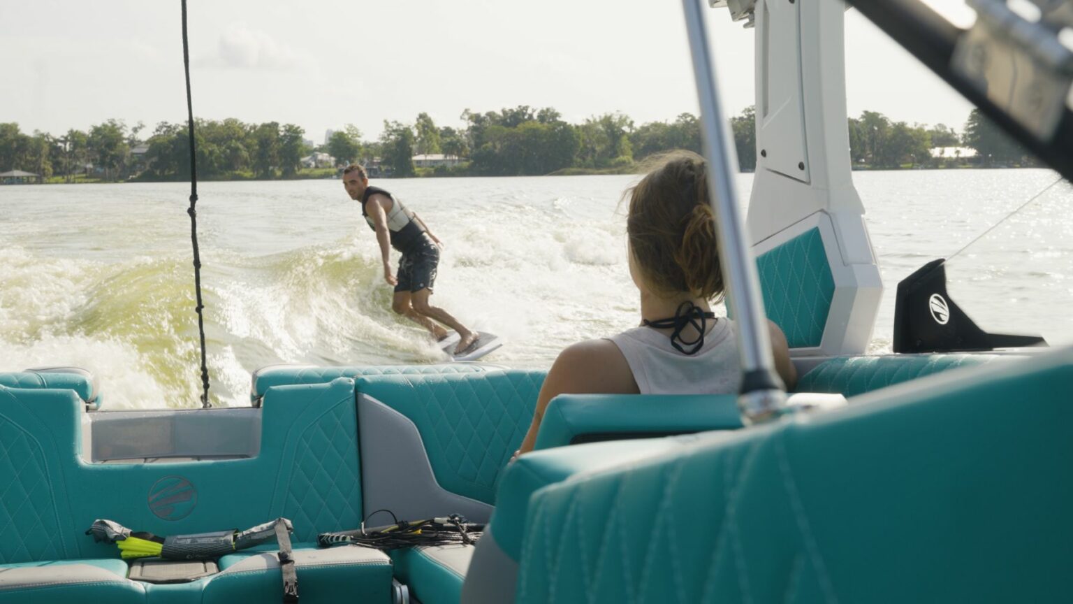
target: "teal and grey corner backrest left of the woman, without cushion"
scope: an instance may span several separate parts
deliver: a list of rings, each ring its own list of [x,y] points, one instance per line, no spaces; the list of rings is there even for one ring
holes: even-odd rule
[[[370,480],[421,483],[417,472],[449,493],[487,508],[500,472],[520,445],[544,380],[541,371],[381,375],[357,380],[364,449],[363,480],[374,498],[384,488]],[[378,438],[384,440],[383,443]],[[387,449],[379,449],[386,446]],[[380,455],[371,451],[380,450]],[[391,450],[391,456],[383,455]],[[393,465],[412,459],[415,466]],[[422,478],[423,479],[423,478]],[[371,503],[367,505],[370,509]],[[378,503],[398,514],[403,502]],[[440,509],[437,514],[456,512]],[[485,514],[487,513],[485,512]],[[400,516],[402,517],[402,516]],[[407,513],[406,517],[413,517]],[[472,519],[472,518],[471,518]]]

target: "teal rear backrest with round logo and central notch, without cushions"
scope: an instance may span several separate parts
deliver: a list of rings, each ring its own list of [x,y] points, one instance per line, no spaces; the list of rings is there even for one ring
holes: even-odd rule
[[[354,400],[347,378],[271,388],[254,457],[105,464],[80,458],[84,412],[74,391],[0,387],[0,564],[114,557],[115,546],[84,534],[98,518],[187,534],[282,516],[296,542],[356,527]]]

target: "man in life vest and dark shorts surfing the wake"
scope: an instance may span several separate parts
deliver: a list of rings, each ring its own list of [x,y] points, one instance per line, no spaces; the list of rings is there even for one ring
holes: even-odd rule
[[[377,233],[384,263],[384,281],[395,286],[392,311],[427,329],[437,341],[449,335],[439,323],[450,327],[459,336],[454,354],[469,350],[476,344],[477,332],[467,329],[443,308],[428,303],[440,263],[440,240],[428,230],[424,220],[392,193],[369,186],[369,177],[361,166],[352,163],[343,169],[342,185],[351,199],[362,202],[362,216]],[[398,273],[394,275],[389,247],[402,253]]]

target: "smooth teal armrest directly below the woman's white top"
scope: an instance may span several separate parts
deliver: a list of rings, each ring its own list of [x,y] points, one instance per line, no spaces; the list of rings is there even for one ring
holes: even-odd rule
[[[561,394],[544,412],[535,448],[738,428],[733,394]]]

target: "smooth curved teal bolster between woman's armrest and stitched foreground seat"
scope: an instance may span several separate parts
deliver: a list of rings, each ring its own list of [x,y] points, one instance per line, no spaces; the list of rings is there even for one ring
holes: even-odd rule
[[[496,493],[496,510],[489,521],[494,527],[493,538],[510,558],[517,561],[521,552],[529,498],[533,492],[573,476],[627,466],[677,448],[681,443],[680,438],[616,441],[559,447],[521,456],[506,466]]]

